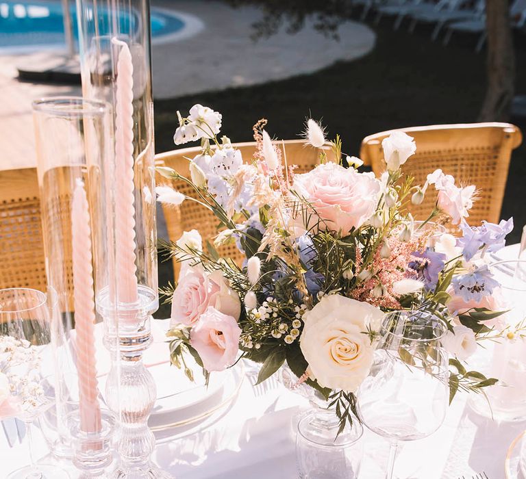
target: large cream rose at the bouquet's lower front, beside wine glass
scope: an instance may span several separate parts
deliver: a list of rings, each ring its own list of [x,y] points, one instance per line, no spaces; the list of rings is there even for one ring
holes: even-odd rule
[[[303,315],[300,346],[312,376],[322,387],[355,392],[367,377],[374,348],[364,334],[379,328],[384,313],[339,294],[324,296]]]

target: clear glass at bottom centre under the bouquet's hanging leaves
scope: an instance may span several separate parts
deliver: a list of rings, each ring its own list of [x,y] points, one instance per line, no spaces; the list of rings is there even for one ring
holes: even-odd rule
[[[314,409],[298,423],[296,461],[300,479],[357,479],[360,474],[364,432],[358,419],[336,437],[335,411]]]

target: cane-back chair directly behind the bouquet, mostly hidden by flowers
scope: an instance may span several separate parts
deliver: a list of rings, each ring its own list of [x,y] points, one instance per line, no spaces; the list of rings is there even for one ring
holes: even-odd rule
[[[276,145],[280,148],[283,146],[281,142],[276,142]],[[287,164],[289,166],[297,166],[295,172],[307,172],[319,164],[321,153],[320,148],[305,146],[305,141],[303,140],[286,140],[284,145]],[[240,150],[243,161],[246,163],[251,161],[255,153],[255,142],[236,143],[234,146]],[[331,148],[328,146],[323,147],[323,151],[325,151],[329,161],[334,161],[334,154],[332,153]],[[201,148],[199,147],[181,148],[179,150],[160,153],[159,155],[155,155],[156,165],[168,166],[176,170],[182,176],[189,178],[190,171],[188,168],[188,159],[194,158],[199,153],[201,153]],[[192,187],[187,183],[184,183],[184,181],[171,181],[158,174],[157,184],[169,185],[187,196],[196,196]],[[205,207],[194,201],[186,200],[180,207],[162,205],[162,210],[166,220],[168,237],[171,241],[176,241],[181,237],[184,231],[191,229],[197,229],[197,231],[201,233],[203,242],[212,242],[213,238],[217,235],[217,218],[211,211],[208,211],[208,209],[205,209]],[[236,248],[235,244],[221,246],[218,248],[218,252],[223,257],[231,257],[234,261],[238,261],[238,263],[240,263],[244,257],[238,248]],[[179,274],[179,264],[177,261],[173,262],[173,270],[175,279],[177,279]]]

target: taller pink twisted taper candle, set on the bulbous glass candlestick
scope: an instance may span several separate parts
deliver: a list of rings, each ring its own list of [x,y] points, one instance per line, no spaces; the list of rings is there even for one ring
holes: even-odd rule
[[[134,209],[134,66],[127,44],[113,39],[121,47],[117,61],[115,106],[116,155],[116,285],[118,302],[138,300],[135,266]],[[125,322],[134,322],[133,315]]]

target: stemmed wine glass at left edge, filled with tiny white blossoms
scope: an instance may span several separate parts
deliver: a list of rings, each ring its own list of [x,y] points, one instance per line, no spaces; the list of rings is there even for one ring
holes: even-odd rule
[[[0,289],[0,371],[10,387],[0,410],[3,417],[25,423],[29,465],[8,479],[68,479],[56,465],[37,465],[32,447],[35,420],[54,404],[53,391],[43,380],[42,355],[51,341],[51,321],[46,294],[29,288]]]

